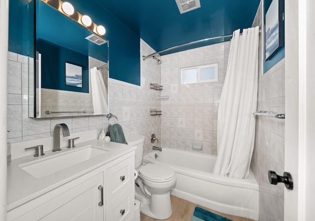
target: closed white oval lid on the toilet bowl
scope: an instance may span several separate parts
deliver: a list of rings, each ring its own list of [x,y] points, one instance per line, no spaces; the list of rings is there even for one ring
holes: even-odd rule
[[[165,165],[148,163],[139,169],[139,175],[149,180],[165,181],[175,176],[175,171]]]

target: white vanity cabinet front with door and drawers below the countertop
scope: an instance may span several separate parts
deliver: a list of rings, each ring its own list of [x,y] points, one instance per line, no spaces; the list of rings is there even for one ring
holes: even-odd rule
[[[130,152],[7,212],[7,221],[132,221]]]

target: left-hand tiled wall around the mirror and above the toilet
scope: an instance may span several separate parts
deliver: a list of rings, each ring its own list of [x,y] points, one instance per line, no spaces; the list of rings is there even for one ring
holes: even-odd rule
[[[141,55],[153,53],[141,40]],[[106,116],[80,116],[33,119],[28,117],[28,57],[8,53],[7,78],[7,134],[8,141],[20,142],[52,136],[54,126],[65,123],[70,133],[108,128]],[[126,73],[127,74],[127,73]],[[109,108],[117,116],[126,136],[144,134],[145,153],[150,152],[152,133],[160,137],[160,118],[150,116],[150,109],[160,109],[158,91],[150,89],[150,83],[160,84],[160,65],[153,59],[141,60],[141,86],[109,79]],[[110,120],[110,123],[116,123]],[[98,136],[95,134],[95,138]]]

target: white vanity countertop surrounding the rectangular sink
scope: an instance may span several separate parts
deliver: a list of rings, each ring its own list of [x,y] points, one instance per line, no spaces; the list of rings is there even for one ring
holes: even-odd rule
[[[67,167],[61,171],[50,174],[42,178],[35,178],[19,165],[31,161],[39,161],[44,158],[51,158],[54,155],[63,154],[72,150],[76,150],[88,145],[109,150],[106,154],[100,155],[73,166]],[[33,198],[40,196],[52,189],[62,186],[63,184],[82,176],[97,167],[100,167],[116,158],[119,158],[131,151],[135,150],[134,146],[109,142],[105,143],[101,140],[91,140],[76,144],[75,148],[62,148],[62,151],[44,152],[44,156],[33,157],[28,156],[18,158],[11,161],[7,168],[7,211],[26,203]]]

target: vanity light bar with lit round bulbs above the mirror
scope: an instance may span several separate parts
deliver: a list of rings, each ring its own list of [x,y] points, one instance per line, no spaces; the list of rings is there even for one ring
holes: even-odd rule
[[[63,2],[62,0],[41,0],[41,2],[56,9],[76,23],[86,27],[91,32],[103,38],[103,35],[106,32],[105,28],[101,25],[96,25],[89,16],[77,12],[69,2]],[[103,40],[107,42],[105,38],[103,38]]]

